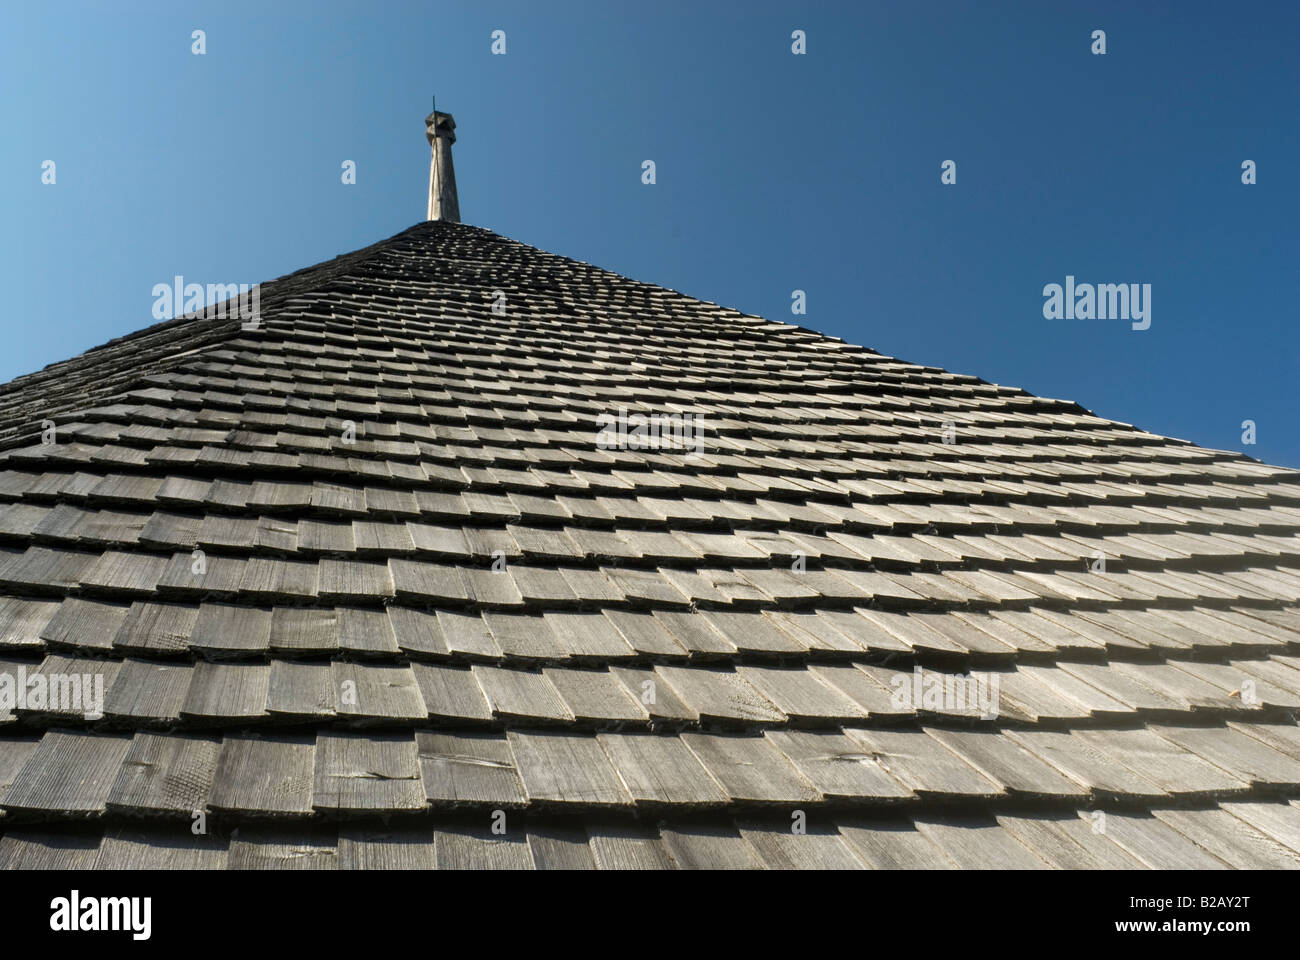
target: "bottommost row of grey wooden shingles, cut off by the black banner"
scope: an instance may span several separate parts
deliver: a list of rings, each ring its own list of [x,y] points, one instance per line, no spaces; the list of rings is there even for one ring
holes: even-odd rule
[[[0,869],[1295,869],[1300,805],[1226,801],[1154,813],[836,816],[802,833],[762,816],[714,822],[421,826],[17,827]]]

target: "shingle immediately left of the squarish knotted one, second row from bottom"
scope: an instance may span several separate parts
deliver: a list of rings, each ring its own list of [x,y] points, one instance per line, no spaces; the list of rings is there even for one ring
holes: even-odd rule
[[[244,816],[309,816],[315,754],[309,736],[226,736],[208,805]]]

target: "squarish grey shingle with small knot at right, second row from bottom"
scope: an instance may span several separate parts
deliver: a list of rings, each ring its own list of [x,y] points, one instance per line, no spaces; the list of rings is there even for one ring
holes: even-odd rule
[[[410,734],[317,734],[315,809],[360,816],[419,810],[425,805],[415,739]]]

